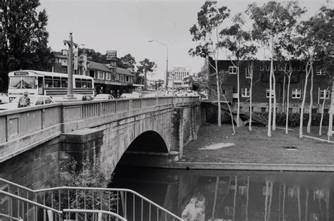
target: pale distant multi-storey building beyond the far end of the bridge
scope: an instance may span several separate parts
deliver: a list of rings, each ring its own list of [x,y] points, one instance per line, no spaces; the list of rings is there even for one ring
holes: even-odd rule
[[[168,87],[173,87],[173,77],[174,77],[174,88],[175,89],[183,89],[189,87],[185,83],[185,77],[190,76],[190,70],[187,70],[183,67],[175,67],[172,70],[168,70],[167,79],[168,79]]]

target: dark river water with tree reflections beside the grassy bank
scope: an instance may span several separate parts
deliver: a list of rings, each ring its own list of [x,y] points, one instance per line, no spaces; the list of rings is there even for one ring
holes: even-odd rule
[[[184,220],[333,220],[333,184],[324,172],[118,166],[110,187],[133,189]]]

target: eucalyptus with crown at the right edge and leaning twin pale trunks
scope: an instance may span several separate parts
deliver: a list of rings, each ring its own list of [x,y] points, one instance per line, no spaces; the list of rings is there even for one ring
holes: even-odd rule
[[[307,94],[308,77],[311,74],[310,84],[310,103],[309,103],[309,121],[307,123],[307,132],[311,132],[311,110],[313,106],[313,77],[314,77],[314,62],[319,60],[326,47],[331,43],[333,36],[333,20],[330,20],[330,11],[326,7],[321,7],[309,20],[304,20],[298,27],[299,37],[296,39],[296,44],[299,49],[300,58],[307,62],[305,70],[304,93],[301,106],[300,122],[299,122],[299,138],[303,137],[303,113]],[[333,44],[332,44],[333,45]]]

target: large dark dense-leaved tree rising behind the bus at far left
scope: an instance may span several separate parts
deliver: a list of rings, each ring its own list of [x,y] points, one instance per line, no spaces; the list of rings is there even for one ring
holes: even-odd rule
[[[47,12],[37,12],[39,0],[1,1],[0,88],[6,89],[11,70],[51,70]],[[0,10],[0,11],[1,11]]]

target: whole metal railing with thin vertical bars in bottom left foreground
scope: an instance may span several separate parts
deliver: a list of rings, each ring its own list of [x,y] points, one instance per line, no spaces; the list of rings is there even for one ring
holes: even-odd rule
[[[32,190],[1,178],[0,187],[8,194],[34,201],[53,211],[63,211],[76,220],[98,220],[99,217],[109,220],[122,220],[120,217],[125,220],[182,220],[131,189],[54,187]],[[42,215],[44,219],[48,215],[46,212]]]

